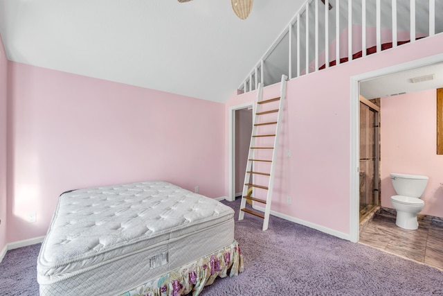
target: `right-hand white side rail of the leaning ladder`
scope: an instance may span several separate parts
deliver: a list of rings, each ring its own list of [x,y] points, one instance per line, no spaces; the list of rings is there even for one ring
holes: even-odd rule
[[[278,115],[277,115],[277,126],[275,128],[275,137],[274,137],[274,149],[272,153],[272,163],[271,163],[271,176],[269,177],[269,185],[268,185],[268,195],[266,196],[266,207],[264,209],[264,221],[263,221],[263,228],[262,230],[268,229],[269,225],[269,214],[271,212],[271,200],[272,200],[272,193],[273,193],[273,181],[275,177],[275,162],[277,160],[277,153],[278,153],[278,140],[280,135],[280,125],[281,125],[281,119],[282,119],[282,113],[283,113],[283,107],[284,107],[284,97],[286,96],[286,84],[287,84],[287,76],[282,75],[282,82],[280,85],[280,102],[278,106]]]

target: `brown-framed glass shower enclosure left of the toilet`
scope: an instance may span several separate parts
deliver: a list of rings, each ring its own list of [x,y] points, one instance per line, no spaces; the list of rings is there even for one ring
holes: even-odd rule
[[[379,101],[360,98],[360,223],[380,205]]]

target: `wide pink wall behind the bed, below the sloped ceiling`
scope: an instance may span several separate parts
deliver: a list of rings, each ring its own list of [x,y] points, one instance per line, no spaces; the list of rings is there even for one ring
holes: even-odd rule
[[[165,180],[225,194],[223,104],[16,62],[8,87],[9,242],[46,234],[70,189]]]

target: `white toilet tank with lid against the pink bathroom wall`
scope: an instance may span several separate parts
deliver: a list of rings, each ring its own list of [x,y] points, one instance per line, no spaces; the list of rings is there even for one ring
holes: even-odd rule
[[[410,196],[411,198],[421,198],[429,177],[422,175],[407,175],[391,173],[390,180],[397,195]]]

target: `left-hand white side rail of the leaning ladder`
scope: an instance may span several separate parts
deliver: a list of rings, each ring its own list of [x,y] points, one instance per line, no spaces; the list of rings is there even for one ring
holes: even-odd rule
[[[258,84],[257,89],[257,101],[261,101],[260,98],[263,96],[263,84],[260,82]],[[251,147],[255,146],[255,137],[252,137],[257,132],[257,126],[255,124],[258,123],[258,116],[257,112],[259,112],[260,105],[255,104],[256,108],[254,110],[253,107],[253,125],[252,125],[252,132],[251,132],[251,141],[249,142],[249,152],[248,152],[248,162],[246,163],[246,170],[244,173],[244,182],[243,182],[243,191],[242,191],[242,202],[240,204],[240,209],[244,209],[246,207],[246,198],[244,196],[248,195],[248,186],[245,184],[249,182],[249,178],[251,177],[251,174],[248,173],[248,171],[253,171],[253,162],[249,159],[254,159],[255,155],[255,149],[251,149]],[[239,211],[238,220],[243,220],[244,218],[244,211]]]

